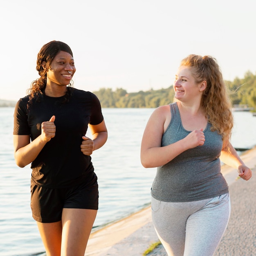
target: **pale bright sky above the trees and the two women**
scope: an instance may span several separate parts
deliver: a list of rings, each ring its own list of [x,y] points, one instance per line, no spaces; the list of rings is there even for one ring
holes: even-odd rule
[[[18,101],[49,41],[67,43],[74,87],[157,90],[189,54],[217,59],[225,80],[256,73],[253,0],[9,0],[0,4],[0,99]]]

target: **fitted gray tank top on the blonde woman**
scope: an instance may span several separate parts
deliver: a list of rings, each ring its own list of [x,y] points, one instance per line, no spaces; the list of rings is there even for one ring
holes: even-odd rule
[[[177,103],[170,104],[171,122],[162,136],[162,146],[186,137],[191,131],[182,126]],[[188,149],[163,166],[157,167],[151,195],[164,202],[190,202],[228,193],[220,173],[222,136],[205,128],[203,146]]]

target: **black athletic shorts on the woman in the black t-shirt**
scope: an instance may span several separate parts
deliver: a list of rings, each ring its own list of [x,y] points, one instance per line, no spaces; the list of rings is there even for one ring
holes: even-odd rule
[[[51,223],[61,220],[63,208],[98,210],[99,191],[97,181],[71,188],[50,189],[37,185],[31,179],[31,210],[38,222]]]

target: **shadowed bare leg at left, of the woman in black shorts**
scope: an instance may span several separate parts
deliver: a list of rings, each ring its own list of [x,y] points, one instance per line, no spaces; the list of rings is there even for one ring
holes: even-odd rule
[[[61,221],[52,223],[36,222],[47,256],[61,255]]]

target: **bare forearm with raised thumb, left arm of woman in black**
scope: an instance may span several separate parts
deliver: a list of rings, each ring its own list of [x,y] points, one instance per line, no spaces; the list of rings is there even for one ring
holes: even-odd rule
[[[41,135],[30,142],[29,135],[13,135],[14,159],[19,167],[25,167],[30,164],[45,144],[55,136],[55,116],[41,126]]]

